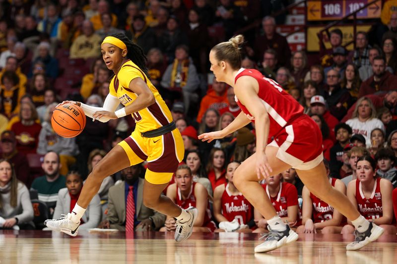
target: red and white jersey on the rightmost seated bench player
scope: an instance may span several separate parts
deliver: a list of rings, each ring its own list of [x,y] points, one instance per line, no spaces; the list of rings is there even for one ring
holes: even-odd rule
[[[376,178],[371,197],[366,199],[361,188],[361,182],[356,179],[357,209],[365,219],[376,219],[383,215],[381,178]]]

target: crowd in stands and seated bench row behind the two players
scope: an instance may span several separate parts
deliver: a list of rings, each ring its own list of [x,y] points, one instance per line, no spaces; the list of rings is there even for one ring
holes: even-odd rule
[[[209,71],[211,47],[258,20],[258,28],[243,33],[242,67],[259,70],[299,102],[322,132],[332,186],[386,233],[396,234],[396,6],[385,4],[382,19],[355,34],[352,51],[335,28],[331,49],[308,56],[292,52],[276,32],[282,20],[269,14],[281,3],[288,1],[0,1],[0,229],[43,228],[35,221],[36,200],[49,217],[69,212],[89,172],[133,131],[131,116],[107,123],[87,119],[75,138],[60,137],[51,126],[64,100],[103,106],[113,72],[100,44],[105,36],[125,33],[146,54],[150,80],[185,145],[184,161],[164,195],[180,207],[199,209],[194,231],[265,232],[266,220],[233,185],[235,169],[256,151],[255,125],[211,143],[198,139],[241,112],[233,87]],[[145,165],[109,175],[80,229],[175,230],[173,217],[143,205]],[[298,233],[353,232],[293,168],[261,184],[277,214]]]

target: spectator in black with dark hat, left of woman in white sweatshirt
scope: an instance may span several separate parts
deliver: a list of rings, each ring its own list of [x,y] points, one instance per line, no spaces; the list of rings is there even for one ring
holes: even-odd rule
[[[343,165],[343,149],[349,144],[351,127],[345,123],[339,123],[334,128],[336,143],[330,150],[331,176],[339,178],[339,170]]]

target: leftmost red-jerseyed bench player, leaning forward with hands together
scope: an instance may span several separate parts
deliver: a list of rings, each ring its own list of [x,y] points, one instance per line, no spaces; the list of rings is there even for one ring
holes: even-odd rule
[[[197,208],[198,215],[194,220],[193,232],[213,232],[216,229],[215,223],[211,220],[207,189],[193,181],[192,171],[188,165],[183,164],[178,167],[175,172],[175,183],[167,188],[167,197],[182,209]],[[175,218],[167,215],[165,226],[160,228],[160,231],[175,231],[175,223]]]

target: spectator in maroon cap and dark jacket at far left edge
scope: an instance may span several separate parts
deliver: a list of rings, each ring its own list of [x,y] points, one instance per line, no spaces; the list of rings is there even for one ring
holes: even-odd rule
[[[18,180],[29,188],[33,181],[30,177],[29,162],[26,156],[16,149],[15,134],[11,130],[1,133],[1,158],[7,159],[14,166]]]

